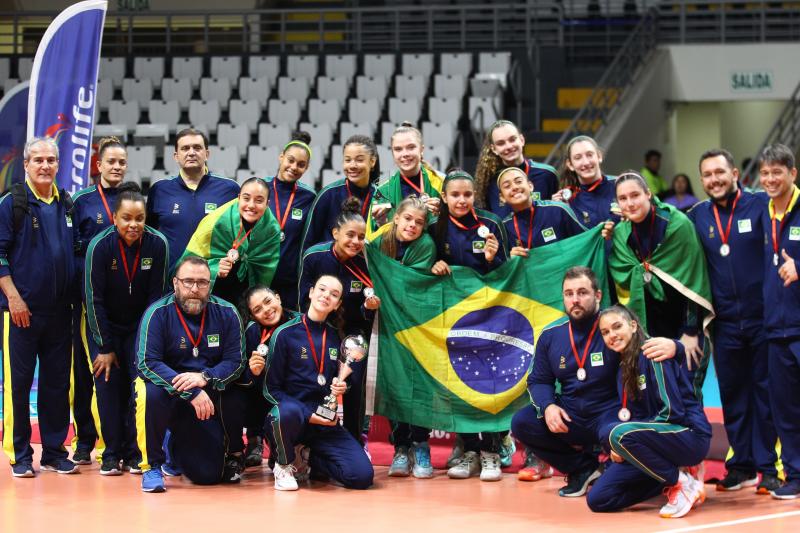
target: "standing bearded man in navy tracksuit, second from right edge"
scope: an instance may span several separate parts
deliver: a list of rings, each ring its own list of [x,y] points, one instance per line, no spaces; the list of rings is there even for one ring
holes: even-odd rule
[[[737,490],[764,479],[759,492],[777,487],[777,434],[769,407],[764,332],[764,228],[768,198],[740,190],[732,158],[710,151],[700,160],[703,188],[712,198],[688,213],[706,254],[714,297],[714,368],[725,431],[733,455],[718,490]],[[727,154],[730,157],[730,154]]]

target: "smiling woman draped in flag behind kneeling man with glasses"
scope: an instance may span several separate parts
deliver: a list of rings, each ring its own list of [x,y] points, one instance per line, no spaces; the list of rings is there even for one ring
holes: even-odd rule
[[[234,304],[249,286],[269,286],[278,266],[281,230],[268,199],[266,182],[248,179],[238,198],[200,221],[183,253],[208,260],[213,294]]]

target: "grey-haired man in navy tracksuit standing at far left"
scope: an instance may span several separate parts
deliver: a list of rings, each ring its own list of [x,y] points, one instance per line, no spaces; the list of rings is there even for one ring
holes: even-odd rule
[[[32,477],[29,394],[39,362],[43,470],[72,473],[69,426],[70,304],[75,261],[67,194],[53,182],[58,149],[50,139],[25,147],[28,213],[15,231],[12,194],[0,200],[0,308],[3,310],[3,450],[16,477]],[[10,401],[9,401],[10,400]]]

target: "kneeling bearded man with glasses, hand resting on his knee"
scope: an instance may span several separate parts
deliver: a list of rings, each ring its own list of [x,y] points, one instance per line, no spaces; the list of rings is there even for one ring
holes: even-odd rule
[[[173,461],[191,481],[214,484],[240,479],[244,412],[241,390],[228,387],[244,369],[242,324],[235,308],[210,296],[205,259],[178,265],[174,294],[144,313],[136,341],[139,377],[136,433],[144,492],[164,492],[161,465],[169,429]],[[224,410],[224,413],[222,412]],[[220,477],[222,474],[222,477]]]

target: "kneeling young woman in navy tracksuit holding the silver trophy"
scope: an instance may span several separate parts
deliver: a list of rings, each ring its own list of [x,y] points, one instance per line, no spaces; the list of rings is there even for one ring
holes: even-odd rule
[[[342,303],[342,283],[321,276],[309,291],[308,312],[281,326],[270,339],[264,396],[273,407],[267,432],[276,452],[275,489],[297,490],[310,467],[351,489],[372,485],[364,449],[336,418],[316,414],[329,393],[347,391],[336,378],[339,334],[327,320]]]

